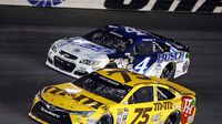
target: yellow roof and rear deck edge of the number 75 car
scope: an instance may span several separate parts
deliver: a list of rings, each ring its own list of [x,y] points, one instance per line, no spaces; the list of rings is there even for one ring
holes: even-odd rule
[[[139,73],[130,72],[124,69],[102,69],[97,71],[97,73],[111,79],[113,81],[117,81],[121,83],[122,85],[129,85],[129,86],[135,86],[138,84],[163,84],[168,85],[176,91],[179,91],[181,94],[190,94],[195,96],[195,93],[180,84],[162,80],[154,76],[145,76],[141,75]]]

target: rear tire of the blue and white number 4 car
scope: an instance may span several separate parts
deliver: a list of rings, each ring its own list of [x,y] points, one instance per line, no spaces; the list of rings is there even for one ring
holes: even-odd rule
[[[165,79],[165,80],[172,80],[175,73],[175,64],[173,63],[169,63],[168,65],[165,65],[165,68],[163,69],[160,78],[161,79]]]

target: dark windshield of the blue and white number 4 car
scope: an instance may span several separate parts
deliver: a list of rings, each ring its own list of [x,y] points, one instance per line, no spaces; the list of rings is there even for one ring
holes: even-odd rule
[[[115,32],[104,31],[103,29],[99,29],[89,34],[85,34],[83,35],[83,38],[95,44],[102,45],[104,48],[108,48],[118,52],[125,51],[128,46],[130,45],[130,41],[124,39],[122,35]]]

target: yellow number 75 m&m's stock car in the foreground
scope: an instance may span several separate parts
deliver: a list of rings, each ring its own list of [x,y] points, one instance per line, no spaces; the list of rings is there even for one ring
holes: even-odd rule
[[[191,124],[195,93],[124,69],[101,69],[39,91],[29,113],[42,124]]]

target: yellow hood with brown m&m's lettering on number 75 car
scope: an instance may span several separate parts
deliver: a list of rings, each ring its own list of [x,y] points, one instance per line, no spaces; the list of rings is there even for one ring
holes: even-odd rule
[[[41,97],[54,106],[69,111],[93,111],[115,102],[84,91],[72,83],[48,86],[42,90]]]

